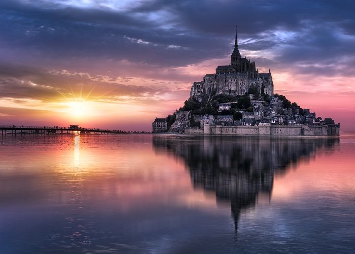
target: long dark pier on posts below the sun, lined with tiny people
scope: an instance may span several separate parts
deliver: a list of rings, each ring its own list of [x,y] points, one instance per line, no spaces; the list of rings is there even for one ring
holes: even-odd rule
[[[74,126],[74,127],[73,127]],[[23,125],[0,125],[2,135],[26,135],[26,134],[125,134],[130,132],[117,130],[103,130],[98,128],[82,128],[78,125],[69,127],[60,126],[23,126]]]

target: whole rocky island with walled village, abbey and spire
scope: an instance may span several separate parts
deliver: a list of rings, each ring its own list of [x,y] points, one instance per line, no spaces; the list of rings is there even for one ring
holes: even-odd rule
[[[274,93],[271,71],[259,73],[242,57],[235,29],[230,65],[192,84],[185,105],[166,118],[156,118],[153,133],[338,136],[340,123],[316,117],[296,102]]]

